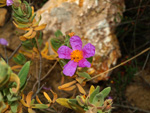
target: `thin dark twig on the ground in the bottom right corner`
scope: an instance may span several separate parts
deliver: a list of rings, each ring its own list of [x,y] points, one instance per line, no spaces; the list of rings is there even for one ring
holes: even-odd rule
[[[125,106],[125,105],[119,105],[119,104],[113,104],[114,107],[122,107],[122,108],[127,108],[127,109],[132,109],[135,111],[141,111],[141,112],[145,112],[145,113],[150,113],[150,111],[144,110],[144,109],[140,109],[138,107],[132,107],[132,106]]]

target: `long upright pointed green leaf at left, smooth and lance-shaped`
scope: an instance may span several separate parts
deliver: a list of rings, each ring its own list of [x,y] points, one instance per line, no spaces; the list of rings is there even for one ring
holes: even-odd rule
[[[30,61],[24,64],[24,66],[22,67],[21,71],[18,74],[20,78],[20,89],[22,89],[22,86],[24,86],[24,84],[26,83],[29,69],[30,69]]]

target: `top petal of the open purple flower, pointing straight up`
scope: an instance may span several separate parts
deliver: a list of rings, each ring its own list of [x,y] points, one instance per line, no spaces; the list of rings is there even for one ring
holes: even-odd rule
[[[70,44],[73,50],[81,50],[82,49],[82,41],[79,36],[72,36],[70,38]]]

